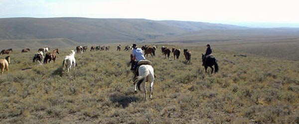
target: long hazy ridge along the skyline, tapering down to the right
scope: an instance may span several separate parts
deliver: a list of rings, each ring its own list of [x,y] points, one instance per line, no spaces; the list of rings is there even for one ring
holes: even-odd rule
[[[138,42],[203,29],[244,27],[187,21],[95,18],[1,18],[0,40],[67,38],[85,43]]]

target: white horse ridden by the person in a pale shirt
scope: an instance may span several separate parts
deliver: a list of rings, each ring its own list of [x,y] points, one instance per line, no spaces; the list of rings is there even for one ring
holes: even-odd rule
[[[150,82],[150,94],[149,99],[152,99],[152,86],[154,81],[154,73],[153,68],[151,65],[141,65],[138,69],[139,76],[136,77],[134,84],[135,84],[135,92],[137,92],[137,87],[140,90],[140,84],[145,82],[145,100],[147,100],[147,82]],[[140,90],[141,91],[141,90]]]

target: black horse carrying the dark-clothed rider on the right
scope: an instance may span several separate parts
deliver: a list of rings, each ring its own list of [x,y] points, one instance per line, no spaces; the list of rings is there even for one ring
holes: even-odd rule
[[[205,59],[204,54],[201,54],[201,58],[202,58],[203,66],[205,68],[205,72],[207,72],[207,68],[209,66],[209,67],[212,68],[211,74],[213,74],[213,70],[214,70],[213,65],[215,67],[215,73],[218,72],[219,67],[218,67],[218,64],[217,64],[217,60],[214,56],[210,55],[210,56],[207,56],[207,58]]]

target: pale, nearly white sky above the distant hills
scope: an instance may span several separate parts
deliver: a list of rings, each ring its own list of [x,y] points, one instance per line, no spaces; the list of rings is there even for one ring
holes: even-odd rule
[[[299,27],[299,0],[0,0],[0,18],[144,18]]]

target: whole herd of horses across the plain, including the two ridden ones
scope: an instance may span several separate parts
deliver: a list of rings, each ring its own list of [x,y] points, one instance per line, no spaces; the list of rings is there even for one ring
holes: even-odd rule
[[[109,46],[91,46],[90,51],[109,51],[110,47]],[[142,46],[141,49],[144,51],[144,55],[146,55],[148,57],[148,55],[151,55],[152,57],[155,56],[155,51],[157,50],[156,46]],[[124,51],[130,51],[133,50],[132,46],[126,46]],[[30,49],[29,48],[25,48],[23,50],[21,50],[21,53],[26,53],[29,52]],[[87,46],[77,46],[76,47],[76,51],[77,53],[85,53],[87,51]],[[117,51],[121,51],[121,45],[117,46]],[[9,52],[12,52],[12,49],[7,49],[7,50],[2,50],[0,52],[0,54],[9,54]],[[171,50],[167,47],[162,46],[161,47],[161,52],[162,55],[168,57],[168,60],[170,60],[170,53],[173,53],[173,59],[174,60],[178,60],[179,56],[180,56],[180,49],[177,48],[172,48]],[[45,53],[45,56],[44,56]],[[71,69],[71,66],[76,66],[76,60],[75,60],[75,51],[71,50],[71,53],[68,56],[65,56],[65,58],[63,59],[63,63],[62,63],[62,69],[65,66],[68,70],[68,72]],[[50,61],[55,62],[56,60],[56,54],[60,54],[58,49],[54,49],[52,52],[50,52],[50,48],[49,47],[43,47],[38,49],[38,53],[36,53],[33,57],[33,62],[39,62],[39,64],[42,63],[48,63]],[[191,62],[191,52],[188,51],[188,49],[184,49],[183,50],[183,54],[185,57],[185,61],[186,63],[190,63]],[[131,54],[131,62],[134,62],[132,60],[132,54]],[[216,73],[219,68],[218,68],[218,64],[217,64],[217,60],[213,55],[209,55],[207,58],[202,54],[202,62],[203,62],[203,66],[205,67],[205,71],[207,72],[207,67],[210,67],[212,69],[211,73],[213,73],[214,68],[212,66],[215,67],[215,71],[214,73]],[[150,83],[150,94],[149,94],[149,98],[152,99],[152,87],[153,87],[153,82],[154,82],[154,69],[151,66],[151,62],[149,62],[148,60],[146,60],[144,63],[146,64],[140,64],[138,63],[139,68],[138,68],[138,74],[139,76],[137,76],[135,79],[133,79],[134,84],[135,84],[135,91],[137,91],[137,88],[139,90],[140,89],[140,85],[142,83],[145,83],[145,87],[144,87],[144,92],[145,92],[145,100],[147,100],[147,90],[146,90],[146,84],[147,82]],[[150,64],[149,64],[150,63]],[[8,64],[10,64],[10,57],[7,56],[5,57],[5,59],[0,59],[0,69],[1,69],[1,74],[4,72],[4,69],[6,71],[8,71]],[[132,63],[132,66],[135,65],[135,63]]]

